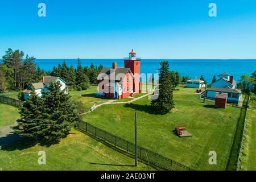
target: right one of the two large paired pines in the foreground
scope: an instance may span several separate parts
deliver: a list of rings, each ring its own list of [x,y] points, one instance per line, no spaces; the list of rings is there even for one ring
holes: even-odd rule
[[[43,92],[43,120],[48,125],[44,138],[52,141],[67,136],[71,128],[81,119],[75,102],[71,100],[71,96],[60,91],[60,86],[59,81],[52,82],[48,92]]]

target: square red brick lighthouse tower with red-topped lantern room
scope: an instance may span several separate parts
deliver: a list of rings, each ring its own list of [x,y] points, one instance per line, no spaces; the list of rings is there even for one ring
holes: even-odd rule
[[[129,57],[125,58],[125,68],[130,68],[134,75],[133,91],[141,93],[141,82],[139,80],[141,74],[141,59],[136,57],[136,53],[131,50]]]

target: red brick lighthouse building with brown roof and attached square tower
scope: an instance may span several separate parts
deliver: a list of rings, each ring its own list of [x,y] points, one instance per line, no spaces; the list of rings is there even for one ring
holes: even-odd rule
[[[98,75],[98,93],[121,99],[141,92],[141,60],[132,50],[124,62],[125,68],[118,68],[117,63],[113,63],[112,68],[102,68]]]

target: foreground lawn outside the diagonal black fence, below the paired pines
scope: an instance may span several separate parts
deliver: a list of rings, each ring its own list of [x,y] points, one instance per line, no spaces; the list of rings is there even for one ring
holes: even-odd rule
[[[46,152],[46,165],[38,164],[38,152]],[[77,130],[50,147],[27,140],[0,149],[1,170],[152,170]]]

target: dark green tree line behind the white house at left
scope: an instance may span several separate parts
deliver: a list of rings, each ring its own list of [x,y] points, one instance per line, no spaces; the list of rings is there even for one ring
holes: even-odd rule
[[[35,57],[25,55],[23,51],[9,48],[0,61],[0,93],[7,90],[23,91],[32,83],[39,82],[43,76],[61,77],[67,85],[76,90],[85,90],[90,84],[97,84],[97,76],[102,65],[96,67],[82,67],[81,60],[77,60],[77,67],[68,67],[65,61],[52,71],[44,71],[35,64]]]

